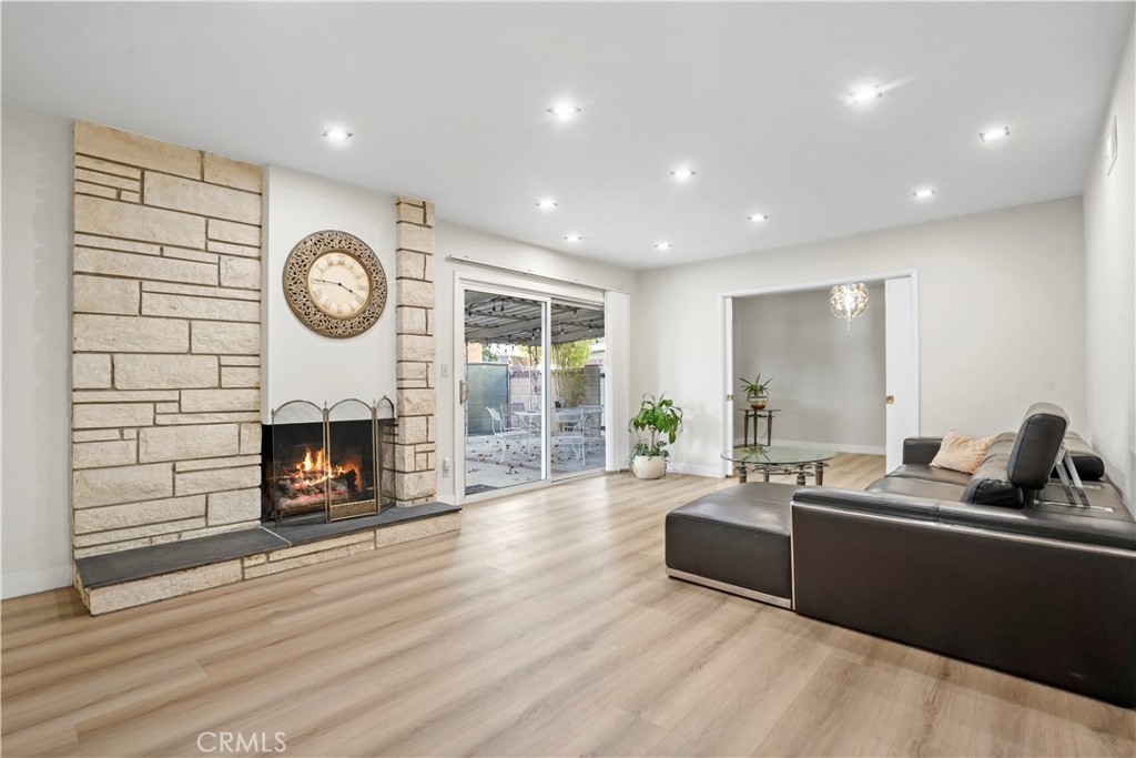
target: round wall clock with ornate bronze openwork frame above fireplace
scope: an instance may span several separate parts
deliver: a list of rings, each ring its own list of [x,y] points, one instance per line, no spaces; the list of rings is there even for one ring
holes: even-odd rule
[[[300,240],[284,263],[284,297],[304,326],[325,336],[362,334],[386,307],[386,274],[367,243],[346,232]]]

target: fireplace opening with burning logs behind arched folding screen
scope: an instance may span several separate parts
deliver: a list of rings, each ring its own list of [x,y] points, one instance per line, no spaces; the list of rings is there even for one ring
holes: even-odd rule
[[[264,430],[262,516],[339,520],[379,513],[383,440],[396,424],[394,405],[348,399],[332,407],[286,402]]]

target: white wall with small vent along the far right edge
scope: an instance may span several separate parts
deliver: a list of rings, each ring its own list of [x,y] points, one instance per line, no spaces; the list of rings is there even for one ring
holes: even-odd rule
[[[1134,26],[1136,27],[1136,26]],[[1133,28],[1085,177],[1088,438],[1136,508],[1136,119]],[[1119,150],[1105,174],[1104,141],[1117,119]]]

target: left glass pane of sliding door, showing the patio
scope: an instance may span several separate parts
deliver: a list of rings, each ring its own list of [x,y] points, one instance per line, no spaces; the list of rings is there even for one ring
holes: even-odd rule
[[[465,494],[548,478],[549,301],[465,290]]]

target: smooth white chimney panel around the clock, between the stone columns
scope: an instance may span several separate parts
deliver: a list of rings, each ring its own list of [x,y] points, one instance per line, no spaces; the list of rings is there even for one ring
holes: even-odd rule
[[[318,406],[345,398],[371,402],[394,383],[394,195],[270,166],[265,173],[265,336],[261,370],[265,423],[289,400]],[[284,298],[284,263],[303,238],[337,230],[366,242],[386,274],[382,317],[365,334],[333,339],[295,317]]]

